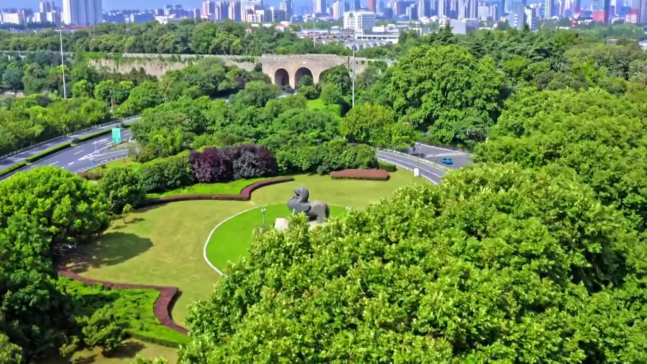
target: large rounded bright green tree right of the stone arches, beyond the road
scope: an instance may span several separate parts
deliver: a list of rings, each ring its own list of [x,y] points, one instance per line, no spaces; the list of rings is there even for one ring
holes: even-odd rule
[[[457,45],[411,49],[394,66],[390,83],[396,113],[429,128],[436,142],[461,141],[468,129],[487,130],[503,100],[503,73],[494,60],[477,59]]]

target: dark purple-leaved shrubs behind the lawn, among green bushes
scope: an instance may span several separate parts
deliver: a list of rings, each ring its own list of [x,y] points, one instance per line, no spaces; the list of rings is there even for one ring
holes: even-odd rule
[[[189,155],[199,183],[228,182],[276,175],[276,158],[265,146],[244,144],[193,150]]]

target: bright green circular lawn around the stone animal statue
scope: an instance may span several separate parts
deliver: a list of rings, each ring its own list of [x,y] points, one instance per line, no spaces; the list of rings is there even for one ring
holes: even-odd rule
[[[263,224],[261,212],[263,208],[265,208],[265,224]],[[330,206],[331,218],[345,213],[345,207]],[[223,270],[228,262],[236,262],[241,257],[247,256],[247,251],[258,234],[258,227],[271,228],[276,219],[290,216],[287,203],[259,206],[245,211],[215,229],[206,246],[206,256],[215,267]]]

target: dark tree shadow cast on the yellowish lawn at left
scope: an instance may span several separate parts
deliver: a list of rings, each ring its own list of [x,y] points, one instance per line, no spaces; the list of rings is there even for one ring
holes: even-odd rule
[[[153,242],[131,233],[107,233],[88,245],[79,246],[65,255],[65,266],[74,273],[89,268],[114,266],[148,251]]]

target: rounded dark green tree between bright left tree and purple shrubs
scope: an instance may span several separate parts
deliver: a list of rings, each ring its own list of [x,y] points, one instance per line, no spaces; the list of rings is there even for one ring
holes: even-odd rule
[[[146,197],[142,179],[132,168],[112,168],[105,172],[99,182],[100,188],[111,205],[111,210],[119,214],[126,205],[138,206]]]

